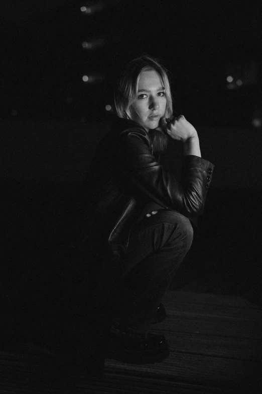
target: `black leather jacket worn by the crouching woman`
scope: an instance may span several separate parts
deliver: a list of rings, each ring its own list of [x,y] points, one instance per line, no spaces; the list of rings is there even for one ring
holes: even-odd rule
[[[116,261],[124,257],[129,233],[148,203],[188,218],[203,212],[213,164],[201,157],[184,157],[182,177],[165,171],[153,152],[143,126],[116,118],[96,147],[90,165],[89,203],[92,234],[109,245]]]

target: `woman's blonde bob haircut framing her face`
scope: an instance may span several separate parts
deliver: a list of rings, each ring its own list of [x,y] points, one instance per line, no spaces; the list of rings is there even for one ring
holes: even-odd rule
[[[165,118],[170,118],[173,113],[172,95],[168,71],[154,57],[143,55],[131,60],[117,81],[114,92],[114,110],[119,118],[132,119],[130,109],[138,94],[138,84],[143,71],[155,70],[159,73],[166,90],[167,105]]]

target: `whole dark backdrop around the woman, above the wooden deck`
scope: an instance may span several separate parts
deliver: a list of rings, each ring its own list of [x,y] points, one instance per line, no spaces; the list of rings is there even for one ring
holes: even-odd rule
[[[100,2],[95,12],[97,4],[20,0],[0,6],[6,288],[19,288],[21,278],[26,286],[28,273],[33,283],[36,273],[50,280],[52,272],[56,283],[72,235],[68,218],[86,206],[83,181],[95,145],[110,128],[105,106],[112,104],[115,75],[146,52],[170,71],[174,114],[197,127],[202,157],[215,165],[199,239],[171,287],[260,302],[258,7],[240,0],[118,0]],[[93,11],[83,14],[82,6]],[[97,40],[98,47],[82,46]],[[180,159],[181,146],[171,141],[163,163],[174,171]]]

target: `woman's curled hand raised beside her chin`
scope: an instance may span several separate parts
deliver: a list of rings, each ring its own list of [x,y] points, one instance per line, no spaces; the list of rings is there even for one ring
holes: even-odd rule
[[[195,127],[186,120],[184,115],[179,115],[177,118],[172,116],[170,119],[162,118],[161,128],[171,138],[182,142],[186,142],[192,137],[198,137]]]

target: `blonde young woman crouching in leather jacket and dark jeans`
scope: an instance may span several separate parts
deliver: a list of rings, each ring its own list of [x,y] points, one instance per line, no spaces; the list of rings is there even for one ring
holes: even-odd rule
[[[115,89],[115,114],[88,184],[92,234],[116,278],[106,357],[151,363],[169,355],[167,340],[148,331],[165,318],[161,298],[191,247],[190,219],[203,212],[214,166],[201,158],[194,126],[172,116],[168,74],[158,60],[128,63]],[[184,148],[180,181],[158,162],[170,138]]]

